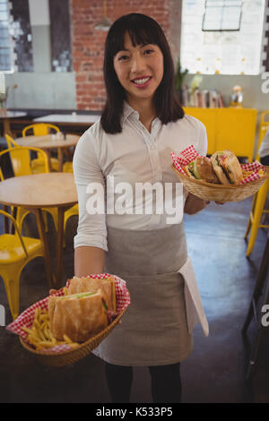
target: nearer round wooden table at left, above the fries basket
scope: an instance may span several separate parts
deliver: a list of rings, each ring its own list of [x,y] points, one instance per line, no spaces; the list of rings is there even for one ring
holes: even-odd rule
[[[7,178],[0,183],[0,203],[22,206],[36,215],[43,245],[49,288],[60,288],[63,276],[64,213],[77,202],[72,173],[45,173]],[[48,239],[42,208],[56,207],[58,211],[56,275],[51,269]]]

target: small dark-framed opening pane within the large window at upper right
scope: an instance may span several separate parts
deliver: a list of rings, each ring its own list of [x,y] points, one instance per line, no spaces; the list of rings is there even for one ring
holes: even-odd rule
[[[240,30],[242,1],[206,0],[203,30]]]

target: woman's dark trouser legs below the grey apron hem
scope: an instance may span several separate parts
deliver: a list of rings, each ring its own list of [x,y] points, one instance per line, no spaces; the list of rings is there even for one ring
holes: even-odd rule
[[[178,403],[181,401],[180,363],[149,366],[152,378],[154,403]],[[113,403],[130,400],[133,367],[105,363],[108,391]]]

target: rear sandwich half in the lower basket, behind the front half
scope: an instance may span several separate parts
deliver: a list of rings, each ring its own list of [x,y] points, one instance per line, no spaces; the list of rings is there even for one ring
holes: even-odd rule
[[[105,302],[108,305],[108,311],[116,312],[116,289],[115,281],[112,277],[109,277],[108,279],[97,279],[91,277],[78,278],[74,276],[74,278],[70,279],[67,293],[68,295],[83,292],[96,293],[98,290],[100,290],[104,296]]]

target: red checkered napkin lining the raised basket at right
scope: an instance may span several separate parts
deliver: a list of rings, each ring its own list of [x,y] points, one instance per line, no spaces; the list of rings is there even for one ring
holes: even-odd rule
[[[178,155],[175,152],[170,152],[170,155],[173,159],[175,167],[181,174],[184,174],[185,176],[186,173],[184,172],[182,167],[185,167],[199,156],[198,152],[195,150],[195,147],[193,145],[189,146],[185,150],[182,150]],[[261,178],[261,176],[258,174],[258,171],[260,169],[263,169],[264,167],[259,161],[255,161],[250,162],[249,164],[241,164],[241,168],[244,171],[253,171],[249,176],[247,176],[240,182],[240,185],[245,185],[251,181],[255,181]]]

